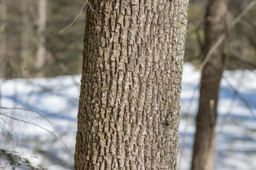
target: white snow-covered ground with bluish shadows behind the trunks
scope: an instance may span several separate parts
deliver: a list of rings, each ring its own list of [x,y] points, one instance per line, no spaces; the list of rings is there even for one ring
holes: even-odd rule
[[[6,107],[0,109],[0,148],[36,156],[33,162],[48,169],[73,169],[80,77],[0,80],[0,105]],[[199,78],[199,71],[186,63],[180,120],[182,170],[189,169],[191,161]],[[215,169],[256,169],[256,71],[226,71],[220,97]],[[14,107],[35,112],[7,109]]]

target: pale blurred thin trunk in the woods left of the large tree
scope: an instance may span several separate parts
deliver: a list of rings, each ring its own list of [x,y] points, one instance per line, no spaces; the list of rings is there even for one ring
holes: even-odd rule
[[[36,68],[42,69],[46,62],[46,49],[45,49],[45,28],[47,21],[47,0],[39,0],[38,3],[38,49]]]

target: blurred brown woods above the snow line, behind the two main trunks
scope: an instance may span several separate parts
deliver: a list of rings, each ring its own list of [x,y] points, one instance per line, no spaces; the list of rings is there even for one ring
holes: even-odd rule
[[[81,73],[85,10],[72,27],[60,31],[76,18],[83,1],[47,1],[45,8],[39,0],[1,1],[6,5],[6,11],[1,11],[2,78]],[[231,1],[228,23],[249,3],[247,0]],[[185,62],[196,66],[203,58],[206,4],[203,0],[191,0],[189,4]],[[250,10],[236,27],[230,28],[227,24],[228,69],[255,69],[255,15],[256,11]],[[40,48],[45,55],[38,54]]]

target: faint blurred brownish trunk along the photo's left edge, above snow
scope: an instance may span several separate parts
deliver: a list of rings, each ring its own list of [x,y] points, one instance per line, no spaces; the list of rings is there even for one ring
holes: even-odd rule
[[[0,0],[0,78],[7,73],[7,0]]]

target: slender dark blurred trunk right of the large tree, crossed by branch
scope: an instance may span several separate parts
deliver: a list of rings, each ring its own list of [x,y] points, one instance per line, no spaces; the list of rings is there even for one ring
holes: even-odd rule
[[[205,56],[223,33],[226,32],[228,0],[209,0],[205,27]],[[202,71],[199,108],[196,118],[193,170],[213,168],[215,126],[220,81],[223,73],[224,45],[221,44],[211,55]]]

